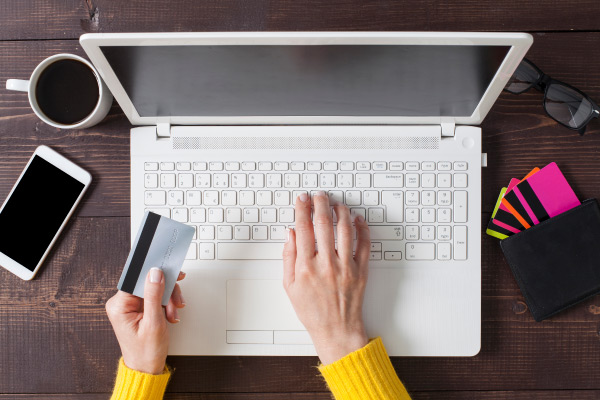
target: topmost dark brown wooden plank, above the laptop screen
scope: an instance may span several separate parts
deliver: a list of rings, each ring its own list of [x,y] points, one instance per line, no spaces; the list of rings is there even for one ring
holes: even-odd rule
[[[75,39],[86,32],[593,31],[595,0],[53,0],[0,4],[0,40]]]

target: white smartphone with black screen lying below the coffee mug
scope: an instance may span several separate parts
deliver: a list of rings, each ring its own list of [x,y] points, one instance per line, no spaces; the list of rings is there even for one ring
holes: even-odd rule
[[[38,147],[0,208],[0,265],[32,279],[91,181],[87,171]]]

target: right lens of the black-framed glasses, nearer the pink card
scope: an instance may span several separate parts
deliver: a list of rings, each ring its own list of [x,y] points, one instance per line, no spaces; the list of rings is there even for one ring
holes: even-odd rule
[[[552,118],[571,128],[581,128],[594,109],[588,99],[568,86],[553,83],[546,92],[546,112]]]

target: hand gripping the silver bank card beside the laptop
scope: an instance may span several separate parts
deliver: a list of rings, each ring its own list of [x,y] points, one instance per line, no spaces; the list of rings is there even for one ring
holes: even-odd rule
[[[178,281],[185,277],[179,273]],[[118,291],[106,302],[106,313],[113,326],[123,362],[127,367],[147,374],[162,374],[167,360],[169,331],[167,321],[179,322],[177,309],[185,302],[181,289],[175,289],[163,309],[165,278],[162,270],[152,268],[146,277],[144,298]]]

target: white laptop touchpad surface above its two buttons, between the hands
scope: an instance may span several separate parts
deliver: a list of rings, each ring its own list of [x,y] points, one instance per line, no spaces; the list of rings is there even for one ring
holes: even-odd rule
[[[227,281],[227,330],[304,330],[281,280]]]

